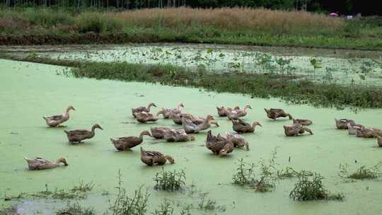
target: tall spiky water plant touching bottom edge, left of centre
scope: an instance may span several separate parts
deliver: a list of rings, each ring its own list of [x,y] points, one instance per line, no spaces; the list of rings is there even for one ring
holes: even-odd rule
[[[109,199],[110,211],[112,215],[144,215],[147,211],[147,202],[149,200],[150,194],[144,192],[143,186],[139,187],[138,190],[134,191],[134,194],[130,197],[125,188],[122,187],[122,174],[118,171],[118,186],[117,197],[115,197],[112,202]]]

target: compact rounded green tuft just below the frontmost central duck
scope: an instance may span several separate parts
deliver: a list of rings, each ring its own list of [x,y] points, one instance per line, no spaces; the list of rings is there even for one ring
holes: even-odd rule
[[[153,180],[156,183],[154,189],[170,192],[180,190],[186,184],[184,170],[180,170],[179,172],[176,170],[167,171],[162,168],[162,171],[156,173]]]

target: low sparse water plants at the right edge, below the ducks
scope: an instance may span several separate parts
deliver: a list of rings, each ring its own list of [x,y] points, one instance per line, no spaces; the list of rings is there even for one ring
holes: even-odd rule
[[[367,167],[366,165],[361,165],[353,173],[349,173],[347,164],[340,164],[340,175],[341,178],[354,179],[354,180],[364,180],[364,179],[375,179],[382,176],[382,162],[376,163],[376,165],[371,165]]]

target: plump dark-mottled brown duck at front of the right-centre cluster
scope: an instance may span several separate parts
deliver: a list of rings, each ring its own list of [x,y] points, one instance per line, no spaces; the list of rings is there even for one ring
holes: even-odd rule
[[[231,141],[227,141],[226,138],[220,136],[220,134],[217,136],[212,135],[212,131],[209,130],[207,132],[206,148],[216,156],[224,156],[227,153],[231,153],[235,146],[233,146]]]

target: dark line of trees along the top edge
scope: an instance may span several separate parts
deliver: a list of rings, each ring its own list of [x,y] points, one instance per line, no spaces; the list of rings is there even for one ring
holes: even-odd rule
[[[282,10],[337,12],[342,15],[382,15],[373,0],[2,0],[4,6],[74,6],[97,8],[219,8],[245,6]]]

